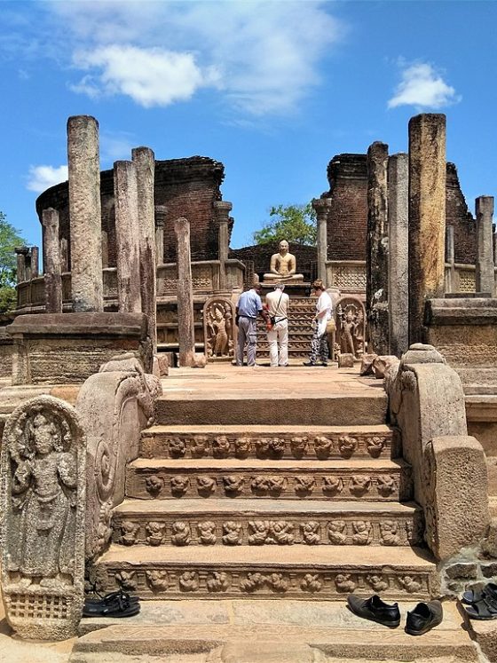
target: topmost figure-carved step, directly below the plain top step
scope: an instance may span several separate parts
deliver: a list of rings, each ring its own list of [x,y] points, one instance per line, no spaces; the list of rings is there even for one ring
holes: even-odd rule
[[[142,431],[145,458],[390,458],[388,426],[153,426]],[[393,450],[393,454],[392,454]]]

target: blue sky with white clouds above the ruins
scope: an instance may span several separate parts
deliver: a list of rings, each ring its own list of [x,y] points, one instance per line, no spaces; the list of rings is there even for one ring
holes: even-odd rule
[[[494,195],[494,2],[0,0],[0,210],[39,244],[37,195],[67,178],[67,117],[100,125],[102,169],[157,159],[225,164],[232,246],[276,204],[328,188],[327,163],[407,122],[447,116],[447,160],[474,209]]]

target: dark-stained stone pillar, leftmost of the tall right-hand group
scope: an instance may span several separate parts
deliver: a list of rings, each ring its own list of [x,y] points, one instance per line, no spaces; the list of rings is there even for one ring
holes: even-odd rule
[[[367,150],[366,306],[368,352],[389,354],[387,216],[388,145]]]

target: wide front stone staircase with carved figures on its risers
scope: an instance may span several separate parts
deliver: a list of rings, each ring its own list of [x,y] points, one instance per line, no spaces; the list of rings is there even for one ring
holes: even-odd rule
[[[369,401],[341,397],[346,407],[302,399],[292,413],[278,395],[258,410],[249,399],[245,409],[217,399],[213,410],[162,397],[114,509],[101,590],[156,600],[428,598],[435,565],[422,511],[396,432],[382,422],[383,395],[372,391]],[[283,413],[279,425],[257,416],[263,406],[272,419]]]

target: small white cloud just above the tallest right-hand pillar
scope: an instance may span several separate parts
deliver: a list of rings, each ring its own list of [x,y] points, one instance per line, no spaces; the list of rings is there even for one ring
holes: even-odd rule
[[[430,64],[416,63],[402,72],[388,107],[415,106],[438,110],[461,101],[454,88],[448,85]]]

